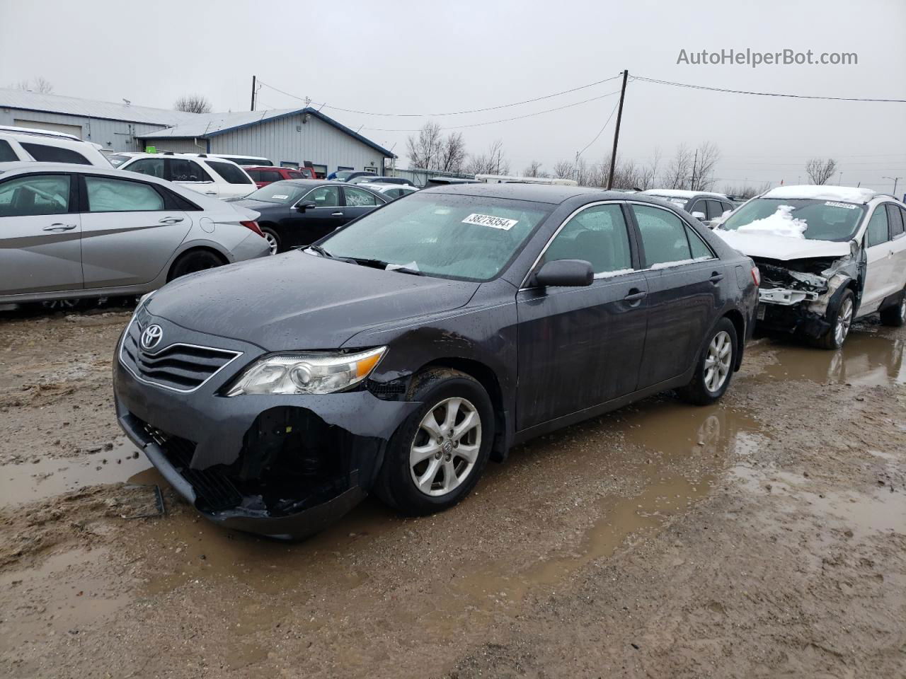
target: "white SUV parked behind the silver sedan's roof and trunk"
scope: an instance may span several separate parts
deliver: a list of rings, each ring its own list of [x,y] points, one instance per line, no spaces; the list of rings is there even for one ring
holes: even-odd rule
[[[199,194],[216,198],[244,198],[257,186],[246,170],[224,158],[205,154],[141,153],[119,166],[122,170],[167,179]]]

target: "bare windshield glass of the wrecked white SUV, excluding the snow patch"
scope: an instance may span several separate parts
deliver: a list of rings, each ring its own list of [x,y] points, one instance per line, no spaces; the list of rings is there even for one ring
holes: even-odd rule
[[[805,221],[803,235],[813,241],[848,241],[864,212],[862,206],[837,200],[756,198],[728,216],[720,228],[736,231],[740,226],[774,215],[779,206],[793,207],[790,215]]]

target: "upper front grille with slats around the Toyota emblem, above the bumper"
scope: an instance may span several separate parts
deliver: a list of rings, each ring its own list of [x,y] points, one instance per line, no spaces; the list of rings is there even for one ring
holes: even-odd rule
[[[171,344],[153,354],[139,347],[142,327],[130,324],[122,341],[120,360],[137,378],[176,391],[194,391],[240,355],[238,351]]]

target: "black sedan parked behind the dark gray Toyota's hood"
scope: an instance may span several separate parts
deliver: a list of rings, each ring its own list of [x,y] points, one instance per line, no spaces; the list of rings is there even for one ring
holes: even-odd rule
[[[271,245],[271,253],[276,254],[314,243],[389,200],[360,186],[292,179],[268,184],[234,204],[261,214],[258,226]]]

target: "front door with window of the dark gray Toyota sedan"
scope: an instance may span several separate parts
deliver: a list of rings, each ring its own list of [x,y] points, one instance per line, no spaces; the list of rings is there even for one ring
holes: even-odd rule
[[[647,288],[621,204],[573,213],[534,272],[559,259],[591,262],[595,278],[587,287],[534,286],[516,294],[520,430],[629,394],[639,377]]]

